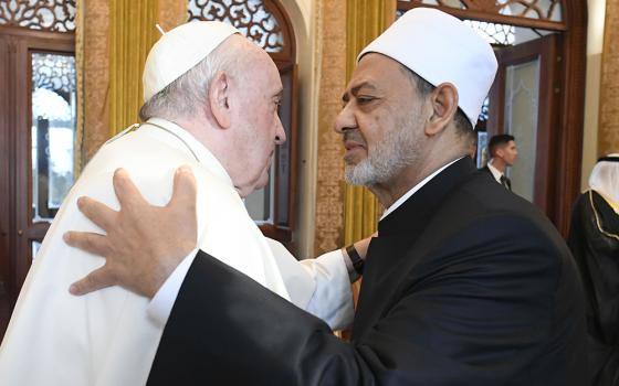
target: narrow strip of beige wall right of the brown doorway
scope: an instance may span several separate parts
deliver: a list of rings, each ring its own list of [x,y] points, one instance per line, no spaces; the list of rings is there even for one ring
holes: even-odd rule
[[[589,174],[598,157],[599,94],[606,0],[588,0],[588,11],[581,190],[587,189]]]

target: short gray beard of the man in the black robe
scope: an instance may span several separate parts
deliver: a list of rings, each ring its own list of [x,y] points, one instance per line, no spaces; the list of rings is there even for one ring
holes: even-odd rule
[[[368,151],[366,159],[346,165],[346,182],[366,186],[387,183],[417,161],[420,144],[411,125],[402,125],[386,132],[382,141]]]

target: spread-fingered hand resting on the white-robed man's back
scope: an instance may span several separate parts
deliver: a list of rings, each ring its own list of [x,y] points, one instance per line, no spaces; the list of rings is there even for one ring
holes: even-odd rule
[[[67,232],[66,244],[105,257],[105,265],[74,282],[70,292],[85,294],[120,286],[153,298],[182,259],[196,248],[196,179],[181,167],[174,178],[174,191],[166,206],[150,205],[128,173],[114,173],[114,190],[120,211],[80,197],[80,211],[105,230],[105,235]]]

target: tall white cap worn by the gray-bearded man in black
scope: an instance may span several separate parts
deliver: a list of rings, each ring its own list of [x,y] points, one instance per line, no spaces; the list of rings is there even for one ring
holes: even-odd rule
[[[361,51],[387,55],[434,87],[451,83],[458,106],[473,127],[494,75],[496,57],[483,37],[459,19],[433,8],[415,8]]]

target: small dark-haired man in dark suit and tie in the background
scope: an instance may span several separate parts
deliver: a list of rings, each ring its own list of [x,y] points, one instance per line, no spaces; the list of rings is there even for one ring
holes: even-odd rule
[[[493,136],[487,142],[487,151],[491,158],[482,170],[511,191],[512,181],[505,175],[505,170],[507,167],[513,167],[518,158],[518,149],[514,137],[510,135]]]

